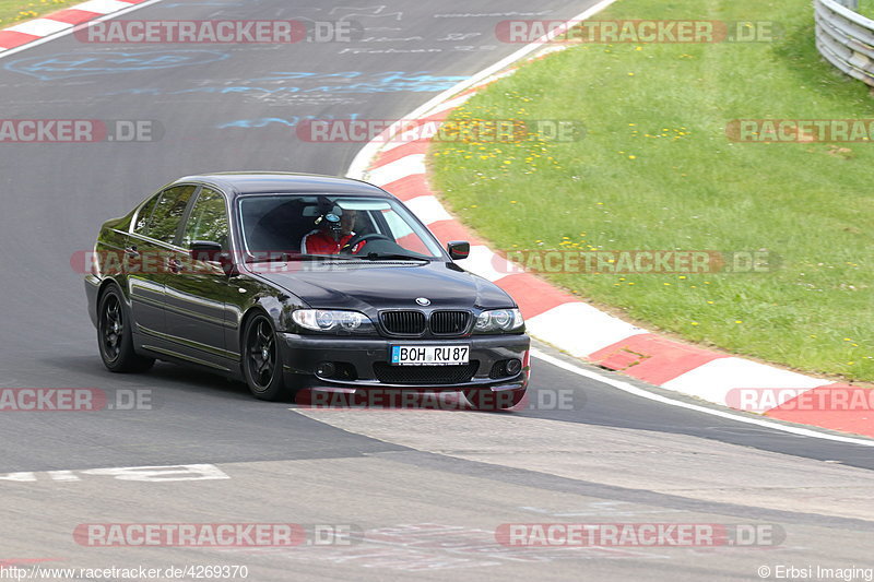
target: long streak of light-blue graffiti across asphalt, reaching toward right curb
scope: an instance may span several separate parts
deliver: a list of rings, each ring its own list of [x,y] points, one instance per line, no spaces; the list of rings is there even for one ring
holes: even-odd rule
[[[397,93],[397,92],[437,92],[454,86],[466,76],[432,75],[427,71],[406,73],[388,71],[383,73],[362,73],[347,71],[342,73],[276,72],[270,76],[261,76],[235,81],[234,85],[197,86],[191,88],[165,90],[161,87],[129,88],[108,95],[185,95],[188,93],[209,93],[227,95],[246,93],[258,95],[280,95],[286,93]],[[269,83],[285,81],[316,81],[316,86],[279,85]],[[354,82],[353,82],[354,81]]]

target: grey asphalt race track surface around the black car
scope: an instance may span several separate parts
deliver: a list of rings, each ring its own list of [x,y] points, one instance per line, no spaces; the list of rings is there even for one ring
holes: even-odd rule
[[[156,136],[0,143],[0,387],[96,388],[113,399],[151,391],[140,409],[0,417],[0,565],[244,565],[259,582],[673,582],[770,579],[780,565],[872,567],[871,447],[656,403],[543,360],[533,360],[531,409],[503,414],[306,409],[168,364],[142,376],[104,369],[71,266],[104,219],[190,174],[342,175],[364,144],[300,141],[298,121],[404,116],[519,48],[495,38],[498,21],[569,19],[593,3],[381,1],[164,0],[123,16],[346,19],[365,28],[351,43],[66,36],[0,59],[3,118],[149,120]],[[556,393],[571,405],[550,406]],[[196,466],[118,468],[174,465]],[[233,549],[94,547],[73,535],[94,523],[275,522],[363,535],[349,545]],[[579,522],[741,524],[773,536],[559,548],[495,537],[501,524]]]

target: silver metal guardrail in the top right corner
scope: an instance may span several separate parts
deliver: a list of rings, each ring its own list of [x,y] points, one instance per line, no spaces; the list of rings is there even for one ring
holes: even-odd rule
[[[874,86],[874,20],[854,12],[858,0],[814,0],[816,49],[850,76]]]

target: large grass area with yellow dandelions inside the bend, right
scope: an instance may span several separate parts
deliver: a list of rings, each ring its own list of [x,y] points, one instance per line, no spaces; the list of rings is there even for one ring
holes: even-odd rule
[[[874,143],[725,134],[732,119],[874,118],[867,88],[818,57],[808,2],[622,0],[597,19],[777,21],[782,34],[578,45],[529,63],[453,116],[579,119],[586,138],[437,143],[444,200],[496,249],[767,249],[781,257],[770,273],[548,278],[702,345],[874,380]]]

